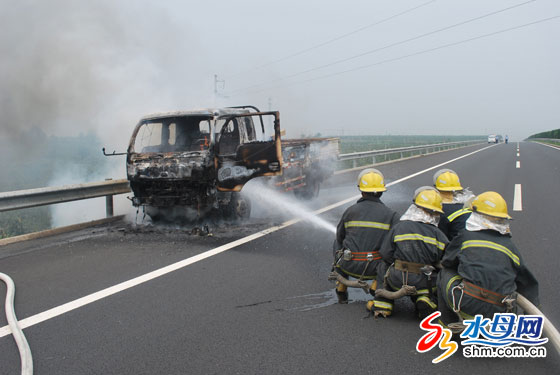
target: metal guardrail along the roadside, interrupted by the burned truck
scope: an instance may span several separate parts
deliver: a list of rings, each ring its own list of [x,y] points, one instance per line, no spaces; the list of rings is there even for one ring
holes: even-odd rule
[[[425,153],[428,153],[430,149],[432,149],[432,152],[437,152],[440,150],[460,147],[461,145],[466,146],[482,142],[482,140],[449,142],[423,146],[353,152],[349,154],[339,155],[339,160],[353,160],[354,167],[356,167],[356,161],[358,159],[367,157],[374,158],[373,162],[375,163],[375,157],[379,155],[401,153],[402,158],[402,154],[406,152],[425,150]],[[66,185],[60,187],[46,187],[39,189],[10,191],[0,193],[0,212],[45,206],[55,203],[71,202],[82,199],[106,197],[107,217],[111,217],[113,216],[113,195],[129,193],[130,191],[131,190],[128,180],[125,179],[106,180],[101,182],[90,182],[85,184]]]

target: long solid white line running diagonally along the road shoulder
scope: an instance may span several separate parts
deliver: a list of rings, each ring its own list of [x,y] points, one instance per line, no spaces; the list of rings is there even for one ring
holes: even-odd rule
[[[408,180],[408,179],[411,179],[411,178],[413,178],[413,177],[416,177],[416,176],[418,176],[418,175],[420,175],[420,174],[422,174],[422,173],[426,173],[426,172],[431,171],[431,170],[433,170],[433,169],[439,168],[439,167],[441,167],[441,166],[443,166],[443,165],[446,165],[446,164],[452,163],[452,162],[454,162],[454,161],[457,161],[457,160],[466,158],[466,157],[468,157],[468,156],[471,156],[471,155],[473,155],[473,154],[476,154],[476,153],[478,153],[478,152],[480,152],[480,151],[484,151],[484,150],[486,150],[487,148],[494,147],[494,146],[496,146],[496,145],[494,144],[494,145],[491,145],[491,146],[486,146],[486,147],[484,147],[484,148],[481,148],[480,150],[476,150],[476,151],[470,152],[470,153],[468,153],[468,154],[465,154],[465,155],[463,155],[463,156],[459,156],[459,157],[457,157],[457,158],[455,158],[455,159],[448,160],[448,161],[443,162],[443,163],[441,163],[441,164],[438,164],[438,165],[435,165],[435,166],[433,166],[433,167],[424,169],[424,170],[422,170],[422,171],[420,171],[420,172],[416,172],[416,173],[413,173],[413,174],[411,174],[411,175],[409,175],[409,176],[406,176],[406,177],[403,177],[403,178],[401,178],[401,179],[398,179],[398,180],[395,180],[395,181],[393,181],[393,182],[390,182],[390,183],[388,183],[386,186],[389,187],[389,186],[392,186],[392,185],[399,184],[399,183],[401,183],[401,182],[403,182],[403,181],[406,181],[406,180]],[[336,208],[336,207],[339,207],[339,206],[345,205],[345,204],[347,204],[347,203],[349,203],[349,202],[355,201],[356,199],[359,199],[360,197],[361,197],[361,195],[355,195],[355,196],[350,197],[350,198],[348,198],[348,199],[345,199],[345,200],[342,200],[342,201],[340,201],[340,202],[336,202],[336,203],[334,203],[334,204],[331,204],[330,206],[323,207],[323,208],[321,208],[321,209],[319,209],[319,210],[316,210],[316,211],[313,212],[313,214],[318,215],[318,214],[324,213],[324,212],[329,211],[329,210],[332,210],[332,209],[334,209],[334,208]],[[160,276],[163,276],[163,275],[165,275],[165,274],[168,274],[168,273],[170,273],[170,272],[177,271],[177,270],[179,270],[179,269],[181,269],[181,268],[184,268],[184,267],[186,267],[186,266],[188,266],[188,265],[191,265],[191,264],[193,264],[193,263],[199,262],[199,261],[201,261],[201,260],[204,260],[204,259],[206,259],[206,258],[212,257],[212,256],[214,256],[214,255],[223,253],[224,251],[233,249],[234,247],[237,247],[237,246],[243,245],[243,244],[245,244],[245,243],[247,243],[247,242],[251,242],[251,241],[256,240],[256,239],[258,239],[258,238],[264,237],[264,236],[266,236],[267,234],[274,233],[274,232],[276,232],[276,231],[279,231],[280,229],[287,228],[287,227],[289,227],[289,226],[291,226],[291,225],[293,225],[293,224],[295,224],[295,223],[298,223],[298,222],[301,221],[301,220],[302,220],[302,219],[292,219],[292,220],[288,220],[288,221],[286,221],[286,222],[284,222],[284,223],[282,223],[282,224],[280,224],[280,225],[267,228],[267,229],[262,230],[262,231],[260,231],[260,232],[251,234],[251,235],[249,235],[249,236],[247,236],[247,237],[243,237],[243,238],[240,238],[240,239],[238,239],[238,240],[236,240],[236,241],[230,242],[230,243],[228,243],[228,244],[225,244],[225,245],[216,247],[216,248],[214,248],[214,249],[212,249],[212,250],[208,250],[208,251],[206,251],[206,252],[204,252],[204,253],[201,253],[201,254],[192,256],[192,257],[190,257],[190,258],[187,258],[187,259],[181,260],[181,261],[179,261],[179,262],[170,264],[170,265],[168,265],[168,266],[162,267],[162,268],[157,269],[157,270],[155,270],[155,271],[152,271],[152,272],[146,273],[146,274],[144,274],[144,275],[135,277],[134,279],[131,279],[131,280],[128,280],[128,281],[124,281],[124,282],[122,282],[122,283],[120,283],[120,284],[111,286],[111,287],[109,287],[109,288],[100,290],[100,291],[98,291],[98,292],[89,294],[89,295],[84,296],[84,297],[78,298],[78,299],[76,299],[76,300],[74,300],[74,301],[70,301],[70,302],[67,302],[67,303],[65,303],[65,304],[63,304],[63,305],[60,305],[60,306],[57,306],[57,307],[53,307],[52,309],[43,311],[43,312],[41,312],[41,313],[39,313],[39,314],[35,314],[35,315],[32,315],[32,316],[30,316],[30,317],[27,317],[27,318],[25,318],[25,319],[20,320],[20,321],[19,321],[19,325],[20,325],[20,327],[21,327],[22,329],[24,329],[24,328],[27,328],[27,327],[31,327],[31,326],[33,326],[33,325],[35,325],[35,324],[42,323],[42,322],[44,322],[44,321],[46,321],[46,320],[55,318],[55,317],[57,317],[57,316],[59,316],[59,315],[65,314],[65,313],[67,313],[67,312],[69,312],[69,311],[78,309],[78,308],[83,307],[83,306],[85,306],[85,305],[88,305],[88,304],[90,304],[90,303],[92,303],[92,302],[99,301],[100,299],[103,299],[103,298],[109,297],[109,296],[111,296],[111,295],[113,295],[113,294],[122,292],[123,290],[130,289],[130,288],[132,288],[132,287],[134,287],[134,286],[138,286],[138,285],[140,285],[140,284],[143,284],[143,283],[145,283],[145,282],[147,282],[147,281],[156,279],[156,278],[158,278],[158,277],[160,277]],[[4,337],[4,336],[10,335],[10,334],[11,334],[11,331],[10,331],[9,326],[6,325],[6,326],[0,328],[0,337]]]

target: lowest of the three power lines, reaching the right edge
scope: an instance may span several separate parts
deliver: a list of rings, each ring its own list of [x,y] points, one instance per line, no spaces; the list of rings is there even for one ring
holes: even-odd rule
[[[458,41],[458,42],[443,44],[443,45],[438,46],[438,47],[425,49],[425,50],[422,50],[422,51],[410,53],[410,54],[408,54],[408,55],[403,55],[403,56],[395,57],[395,58],[392,58],[392,59],[382,60],[382,61],[379,61],[379,62],[376,62],[376,63],[373,63],[373,64],[362,65],[362,66],[358,66],[358,67],[356,67],[356,68],[347,69],[347,70],[343,70],[343,71],[339,71],[339,72],[335,72],[335,73],[331,73],[331,74],[326,74],[326,75],[323,75],[323,76],[319,76],[319,77],[315,77],[315,78],[310,78],[310,79],[306,79],[306,80],[302,80],[302,81],[292,82],[292,83],[286,84],[286,85],[278,85],[278,86],[269,87],[269,88],[265,88],[265,89],[253,90],[253,91],[249,91],[248,93],[256,93],[256,92],[261,92],[261,91],[270,90],[270,89],[275,89],[275,88],[281,88],[281,87],[289,87],[289,86],[294,86],[294,85],[298,85],[298,84],[302,84],[302,83],[313,82],[313,81],[317,81],[317,80],[321,80],[321,79],[325,79],[325,78],[329,78],[329,77],[333,77],[333,76],[337,76],[337,75],[341,75],[341,74],[345,74],[345,73],[355,72],[355,71],[357,71],[357,70],[363,70],[363,69],[366,69],[366,68],[371,68],[371,67],[373,67],[373,66],[377,66],[377,65],[381,65],[381,64],[386,64],[386,63],[389,63],[389,62],[404,60],[404,59],[407,59],[407,58],[409,58],[409,57],[422,55],[422,54],[425,54],[425,53],[437,51],[437,50],[444,49],[444,48],[447,48],[447,47],[452,47],[452,46],[456,46],[456,45],[459,45],[459,44],[472,42],[472,41],[474,41],[474,40],[478,40],[478,39],[482,39],[482,38],[486,38],[486,37],[490,37],[490,36],[494,36],[494,35],[498,35],[498,34],[503,34],[503,33],[509,32],[509,31],[513,31],[513,30],[517,30],[517,29],[524,28],[524,27],[536,25],[536,24],[538,24],[538,23],[551,21],[551,20],[556,19],[556,18],[560,18],[560,15],[553,16],[553,17],[549,17],[549,18],[543,18],[543,19],[540,19],[540,20],[537,20],[537,21],[534,21],[534,22],[530,22],[530,23],[526,23],[526,24],[523,24],[523,25],[518,25],[518,26],[510,27],[510,28],[507,28],[507,29],[502,29],[502,30],[494,31],[494,32],[492,32],[492,33],[479,35],[479,36],[476,36],[476,37],[473,37],[473,38],[469,38],[469,39],[463,39],[463,40],[460,40],[460,41]]]

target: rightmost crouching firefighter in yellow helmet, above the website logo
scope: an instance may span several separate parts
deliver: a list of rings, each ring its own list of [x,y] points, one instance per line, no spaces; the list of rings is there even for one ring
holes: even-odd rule
[[[453,238],[441,261],[437,287],[444,324],[515,312],[516,292],[539,304],[538,282],[511,240],[505,200],[488,191],[472,201],[471,210],[466,229]]]

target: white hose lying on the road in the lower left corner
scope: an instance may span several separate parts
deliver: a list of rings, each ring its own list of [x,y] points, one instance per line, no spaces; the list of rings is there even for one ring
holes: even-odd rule
[[[14,295],[16,291],[16,286],[14,281],[10,276],[5,273],[0,272],[0,279],[6,283],[6,320],[8,320],[8,326],[12,331],[14,340],[19,349],[19,356],[21,358],[21,374],[22,375],[33,375],[33,357],[31,356],[31,349],[27,343],[27,339],[23,334],[23,331],[19,327],[16,312],[14,310]]]

